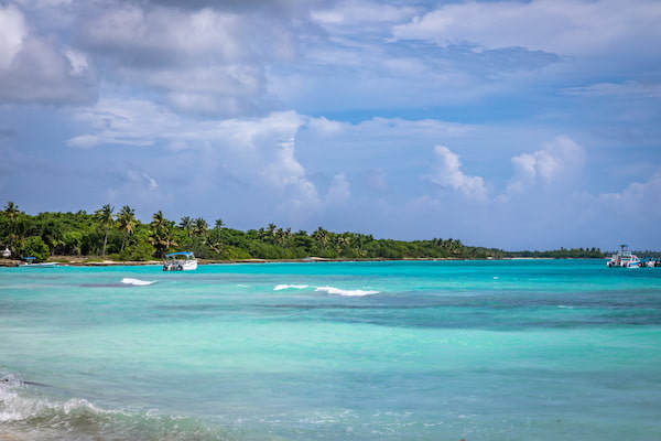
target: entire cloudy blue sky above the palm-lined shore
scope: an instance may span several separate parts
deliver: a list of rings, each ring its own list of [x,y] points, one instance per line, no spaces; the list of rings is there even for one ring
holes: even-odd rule
[[[661,249],[661,1],[0,0],[0,204]]]

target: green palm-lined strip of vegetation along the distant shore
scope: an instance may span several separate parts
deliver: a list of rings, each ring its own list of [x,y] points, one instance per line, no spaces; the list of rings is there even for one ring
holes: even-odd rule
[[[508,257],[587,258],[604,257],[596,248],[556,251],[508,252],[494,248],[470,247],[458,239],[392,240],[375,239],[359,233],[333,233],[318,227],[312,234],[274,224],[241,232],[228,228],[221,219],[213,225],[202,217],[182,217],[178,222],[154,213],[149,224],[136,218],[123,206],[118,212],[104,205],[95,213],[21,212],[13,202],[0,212],[0,246],[13,258],[32,256],[44,261],[57,256],[102,257],[111,260],[161,259],[166,252],[191,250],[203,259],[403,259],[457,258],[486,259]]]

